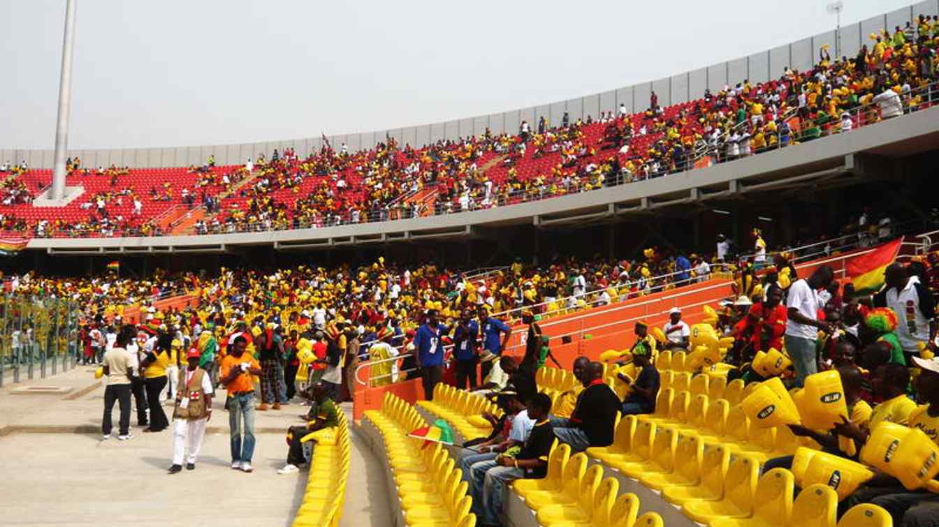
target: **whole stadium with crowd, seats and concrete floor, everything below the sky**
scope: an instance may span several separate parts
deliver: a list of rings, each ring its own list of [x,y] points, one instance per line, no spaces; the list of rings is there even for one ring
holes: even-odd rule
[[[0,149],[0,523],[939,527],[937,104],[929,0],[445,123]]]

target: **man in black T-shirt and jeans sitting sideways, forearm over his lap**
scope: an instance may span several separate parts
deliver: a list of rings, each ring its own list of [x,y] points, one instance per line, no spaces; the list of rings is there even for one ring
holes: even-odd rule
[[[505,487],[509,482],[522,477],[545,477],[547,456],[554,443],[551,422],[547,418],[550,411],[551,398],[542,393],[531,398],[528,414],[535,424],[521,450],[514,457],[503,454],[491,461],[492,468],[485,471],[482,488],[474,485],[470,489],[472,511],[480,519],[480,525],[501,524]]]

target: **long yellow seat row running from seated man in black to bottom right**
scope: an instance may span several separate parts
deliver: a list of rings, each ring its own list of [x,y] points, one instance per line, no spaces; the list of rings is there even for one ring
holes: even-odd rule
[[[623,417],[620,427],[635,424],[633,417]],[[641,435],[655,434],[654,423],[639,427]],[[836,525],[838,493],[826,485],[810,485],[793,501],[792,472],[773,469],[761,477],[760,459],[741,454],[731,460],[727,444],[708,444],[695,432],[670,428],[654,435],[651,448],[648,441],[632,449],[617,443],[589,448],[587,454],[657,490],[670,504],[682,507],[689,519],[712,527]],[[858,505],[838,523],[839,527],[889,525],[889,514],[874,505]]]

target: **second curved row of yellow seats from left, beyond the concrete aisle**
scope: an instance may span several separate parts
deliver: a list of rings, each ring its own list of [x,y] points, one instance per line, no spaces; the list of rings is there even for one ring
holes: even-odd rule
[[[385,394],[378,412],[366,412],[381,433],[392,467],[396,493],[411,527],[474,527],[476,515],[469,512],[472,498],[468,484],[454,467],[454,459],[440,444],[427,447],[408,432],[426,427],[412,404],[391,393]]]

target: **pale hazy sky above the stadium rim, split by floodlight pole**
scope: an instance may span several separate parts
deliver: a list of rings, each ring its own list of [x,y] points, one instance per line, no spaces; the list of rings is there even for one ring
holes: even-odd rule
[[[274,141],[574,98],[830,30],[828,1],[78,0],[69,147]],[[844,4],[854,23],[909,0]],[[3,147],[53,145],[64,19],[65,0],[0,0]]]

